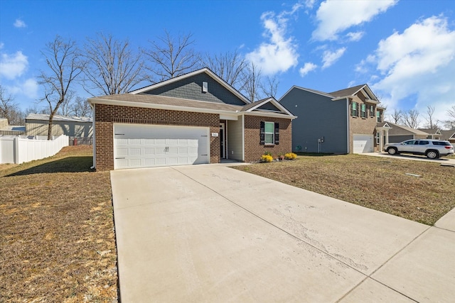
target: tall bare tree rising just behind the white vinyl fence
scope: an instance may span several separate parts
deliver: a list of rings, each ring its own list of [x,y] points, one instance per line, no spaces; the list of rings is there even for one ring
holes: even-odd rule
[[[58,109],[71,94],[70,87],[82,73],[84,64],[80,60],[80,53],[76,43],[65,41],[59,35],[46,44],[41,52],[48,65],[48,72],[41,71],[38,84],[44,87],[44,97],[41,101],[47,102],[50,112],[48,126],[48,140],[52,138],[53,117]]]

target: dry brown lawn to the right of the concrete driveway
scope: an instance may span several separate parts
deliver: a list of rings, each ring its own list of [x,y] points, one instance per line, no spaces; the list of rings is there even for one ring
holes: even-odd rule
[[[455,168],[438,162],[326,155],[236,168],[423,224],[455,207]]]

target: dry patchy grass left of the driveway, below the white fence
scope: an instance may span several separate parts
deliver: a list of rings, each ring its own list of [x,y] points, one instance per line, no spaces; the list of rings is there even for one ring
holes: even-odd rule
[[[0,302],[112,302],[117,252],[109,172],[92,148],[0,165]]]

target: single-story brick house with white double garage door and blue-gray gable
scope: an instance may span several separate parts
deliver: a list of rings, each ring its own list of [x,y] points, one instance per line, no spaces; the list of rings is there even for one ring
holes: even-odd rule
[[[291,151],[296,117],[274,98],[251,103],[208,68],[88,101],[97,170],[252,162]]]

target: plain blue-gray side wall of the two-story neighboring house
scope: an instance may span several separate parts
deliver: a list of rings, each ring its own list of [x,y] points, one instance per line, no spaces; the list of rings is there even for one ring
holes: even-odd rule
[[[318,153],[348,153],[348,114],[346,100],[331,101],[330,97],[302,89],[291,91],[280,100],[297,119],[292,121],[292,150]]]

